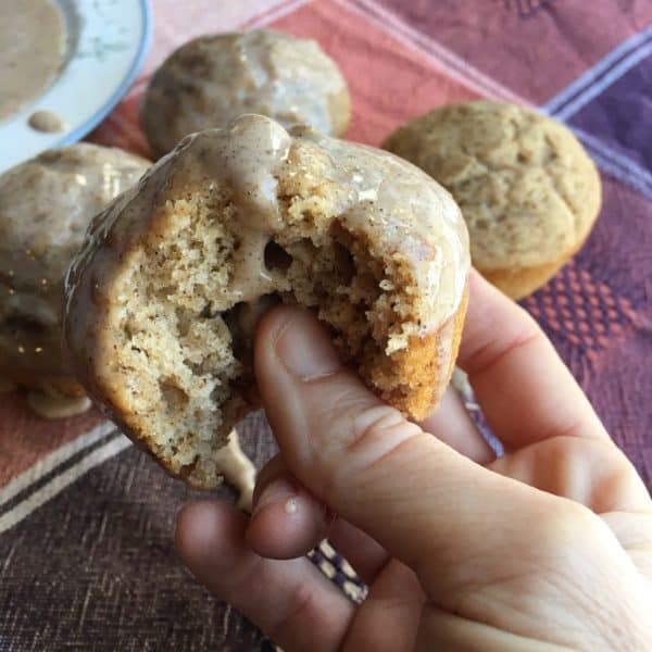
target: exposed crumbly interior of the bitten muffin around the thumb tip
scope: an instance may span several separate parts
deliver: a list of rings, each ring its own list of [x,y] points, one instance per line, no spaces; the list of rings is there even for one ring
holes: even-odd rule
[[[235,260],[249,234],[227,184],[214,179],[156,209],[116,278],[111,364],[126,379],[130,426],[190,484],[220,481],[214,451],[256,405],[251,342],[274,303],[313,310],[381,398],[396,404],[415,389],[397,373],[406,334],[418,330],[410,323],[417,292],[409,265],[398,253],[380,256],[328,214],[333,203],[318,186],[296,184],[291,175],[278,179],[284,227],[259,252],[272,291],[238,300]]]

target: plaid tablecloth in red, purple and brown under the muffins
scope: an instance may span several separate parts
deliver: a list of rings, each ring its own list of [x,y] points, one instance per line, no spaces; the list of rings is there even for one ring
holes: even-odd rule
[[[377,145],[475,97],[566,122],[600,166],[604,208],[582,251],[524,305],[652,482],[650,0],[154,0],[153,12],[142,74],[97,142],[147,154],[137,108],[162,60],[193,36],[261,25],[315,38],[340,64],[352,140]],[[172,531],[189,490],[96,413],[52,423],[21,393],[0,403],[0,650],[271,645],[181,567]],[[274,450],[263,417],[242,434],[260,466]],[[331,550],[317,561],[351,588]]]

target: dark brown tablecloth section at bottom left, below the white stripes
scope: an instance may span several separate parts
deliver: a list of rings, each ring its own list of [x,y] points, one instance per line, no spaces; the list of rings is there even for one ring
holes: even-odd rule
[[[263,418],[241,430],[260,466]],[[271,649],[178,560],[174,517],[196,496],[129,447],[0,536],[0,650]]]

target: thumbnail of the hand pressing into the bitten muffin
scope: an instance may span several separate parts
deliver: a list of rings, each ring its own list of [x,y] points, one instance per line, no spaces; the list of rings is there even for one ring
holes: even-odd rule
[[[276,340],[276,354],[302,380],[329,376],[340,360],[326,330],[308,313],[294,314]]]

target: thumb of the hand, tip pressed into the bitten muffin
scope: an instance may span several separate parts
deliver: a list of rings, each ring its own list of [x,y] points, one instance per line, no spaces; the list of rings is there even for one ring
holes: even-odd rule
[[[312,315],[284,306],[265,316],[255,373],[289,469],[415,569],[431,598],[459,588],[465,567],[481,581],[497,544],[524,546],[550,526],[560,499],[487,471],[381,403]]]

